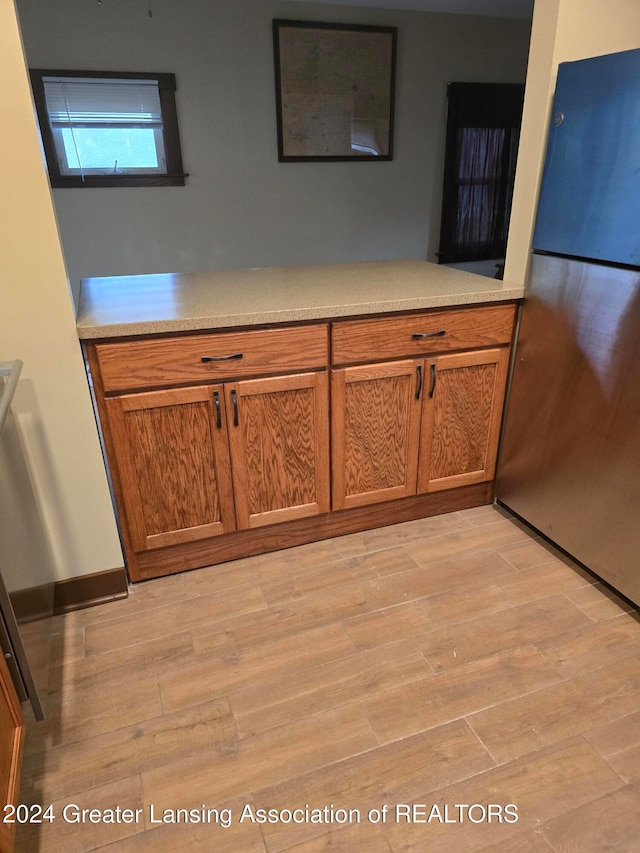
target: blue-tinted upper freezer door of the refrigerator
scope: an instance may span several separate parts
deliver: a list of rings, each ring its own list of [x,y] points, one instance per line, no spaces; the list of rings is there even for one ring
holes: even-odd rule
[[[562,63],[534,250],[640,265],[640,49]]]

